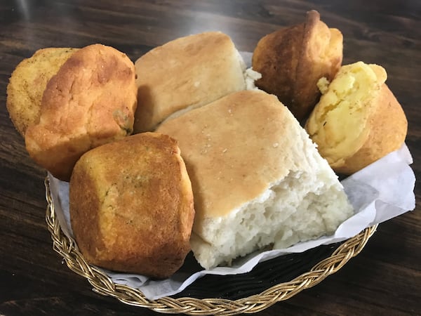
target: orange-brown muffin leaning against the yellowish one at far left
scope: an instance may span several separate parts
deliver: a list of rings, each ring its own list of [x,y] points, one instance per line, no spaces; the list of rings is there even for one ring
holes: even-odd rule
[[[68,181],[77,159],[133,131],[135,67],[116,49],[94,44],[74,52],[49,81],[25,145],[39,166]]]

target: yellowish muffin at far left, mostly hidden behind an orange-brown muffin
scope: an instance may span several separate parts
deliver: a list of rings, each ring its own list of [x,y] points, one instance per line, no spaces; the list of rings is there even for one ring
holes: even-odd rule
[[[19,63],[7,86],[7,110],[25,136],[29,125],[38,123],[41,99],[48,80],[55,75],[77,48],[43,48]]]

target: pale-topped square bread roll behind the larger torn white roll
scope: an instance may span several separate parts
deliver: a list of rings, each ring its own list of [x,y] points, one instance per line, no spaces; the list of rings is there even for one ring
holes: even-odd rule
[[[152,131],[174,112],[244,90],[246,66],[232,40],[221,32],[181,37],[135,62],[138,100],[135,133]]]

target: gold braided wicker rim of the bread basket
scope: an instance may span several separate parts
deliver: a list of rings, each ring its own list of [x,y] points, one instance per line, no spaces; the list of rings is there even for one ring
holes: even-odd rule
[[[185,313],[187,315],[237,315],[240,313],[259,312],[276,302],[287,300],[303,289],[309,289],[342,268],[352,257],[360,253],[368,239],[374,234],[377,225],[366,228],[355,237],[343,242],[328,258],[323,258],[308,272],[269,287],[262,293],[237,299],[235,301],[221,298],[171,298],[163,297],[149,300],[138,289],[122,284],[116,284],[105,273],[89,265],[76,247],[76,242],[67,237],[60,228],[55,216],[48,178],[45,180],[46,222],[53,239],[53,249],[60,254],[70,270],[88,279],[93,291],[105,296],[112,296],[119,301],[156,312],[168,314]]]

